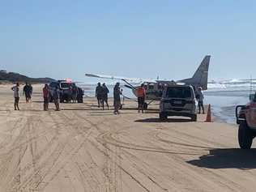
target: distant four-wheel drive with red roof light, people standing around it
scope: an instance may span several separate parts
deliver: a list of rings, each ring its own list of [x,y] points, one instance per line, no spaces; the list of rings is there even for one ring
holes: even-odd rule
[[[64,80],[58,80],[52,83],[49,83],[49,100],[53,101],[53,92],[56,87],[60,90],[60,102],[64,101],[70,102],[72,97],[72,87],[75,86],[75,83],[67,82]]]

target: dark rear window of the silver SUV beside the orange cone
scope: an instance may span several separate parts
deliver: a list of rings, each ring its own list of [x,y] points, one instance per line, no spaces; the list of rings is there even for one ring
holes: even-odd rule
[[[168,87],[166,97],[169,98],[190,98],[192,96],[190,87]]]

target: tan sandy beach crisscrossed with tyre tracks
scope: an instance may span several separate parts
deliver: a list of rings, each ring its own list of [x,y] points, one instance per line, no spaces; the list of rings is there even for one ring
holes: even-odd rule
[[[134,101],[115,116],[92,98],[44,112],[41,87],[34,86],[32,103],[22,97],[21,111],[14,111],[11,86],[0,86],[0,192],[256,187],[256,151],[238,149],[235,125],[204,123],[203,115],[198,122],[159,122],[156,105],[142,114]]]

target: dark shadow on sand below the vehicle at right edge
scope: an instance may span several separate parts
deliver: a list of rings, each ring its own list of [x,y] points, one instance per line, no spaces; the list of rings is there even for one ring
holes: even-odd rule
[[[256,149],[212,149],[209,155],[187,163],[207,169],[256,169]]]

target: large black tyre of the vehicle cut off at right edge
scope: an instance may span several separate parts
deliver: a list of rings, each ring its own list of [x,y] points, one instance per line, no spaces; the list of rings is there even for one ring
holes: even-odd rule
[[[241,122],[238,130],[238,142],[241,149],[250,149],[254,139],[254,133],[247,126],[246,122]]]

